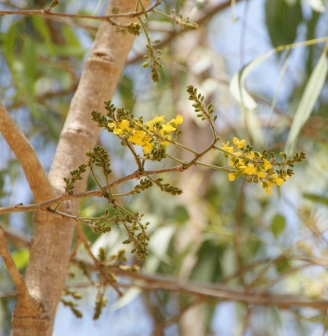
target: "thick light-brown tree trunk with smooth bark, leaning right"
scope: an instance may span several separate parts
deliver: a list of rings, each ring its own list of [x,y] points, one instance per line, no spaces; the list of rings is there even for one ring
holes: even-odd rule
[[[112,0],[107,14],[113,7],[119,12],[135,9],[136,0]],[[148,2],[145,1],[145,6]],[[117,19],[120,23],[130,18]],[[87,58],[83,74],[71,102],[69,113],[49,173],[55,196],[64,191],[63,178],[86,161],[85,153],[96,143],[98,127],[91,122],[91,111],[102,110],[104,100],[112,97],[134,36],[115,31],[107,22],[100,25],[94,45]],[[76,185],[75,191],[86,188],[86,180]],[[49,195],[48,195],[49,197]],[[35,198],[35,196],[34,196]],[[39,197],[38,201],[45,201]],[[78,202],[69,201],[61,210],[76,213]],[[65,286],[74,222],[50,213],[36,213],[26,271],[26,286],[34,299],[18,300],[12,316],[12,335],[49,336],[61,292]]]

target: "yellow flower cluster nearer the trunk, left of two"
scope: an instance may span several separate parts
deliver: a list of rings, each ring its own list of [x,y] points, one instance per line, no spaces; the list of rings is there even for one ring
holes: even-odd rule
[[[175,131],[177,126],[182,123],[183,117],[178,114],[168,123],[165,123],[165,115],[161,115],[145,124],[136,125],[128,119],[122,119],[119,122],[108,123],[107,126],[113,129],[114,134],[126,136],[130,143],[142,146],[144,154],[149,154],[152,148],[158,144],[159,139],[161,145],[170,145],[171,132]],[[157,136],[154,137],[154,135]]]

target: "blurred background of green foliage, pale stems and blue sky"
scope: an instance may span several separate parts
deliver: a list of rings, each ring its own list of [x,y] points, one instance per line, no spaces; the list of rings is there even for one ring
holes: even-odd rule
[[[114,103],[125,106],[145,120],[165,114],[182,114],[185,122],[180,142],[200,150],[211,141],[206,123],[199,122],[187,100],[187,85],[194,85],[213,102],[222,141],[233,136],[246,139],[256,150],[264,147],[276,154],[283,150],[304,88],[322,53],[324,44],[301,46],[276,53],[247,77],[246,87],[257,104],[241,108],[229,91],[232,76],[264,52],[283,44],[328,35],[324,1],[241,0],[234,8],[221,9],[218,0],[163,0],[160,10],[175,9],[199,22],[199,29],[180,32],[167,18],[150,14],[147,27],[153,39],[162,41],[158,83],[149,69],[142,69],[146,39],[136,38],[127,66],[117,87]],[[56,11],[104,13],[103,0],[66,0]],[[45,8],[44,0],[0,2],[1,9]],[[98,22],[67,18],[5,15],[0,21],[0,96],[12,117],[34,146],[49,170],[69,104],[83,64],[92,45]],[[284,70],[282,70],[284,69]],[[110,97],[109,97],[110,98]],[[273,107],[273,100],[276,100]],[[231,183],[226,174],[193,167],[166,176],[183,189],[171,196],[152,188],[126,197],[132,210],[145,213],[151,222],[150,256],[141,270],[180,280],[223,283],[234,288],[325,298],[328,284],[327,256],[327,144],[328,85],[325,81],[311,116],[296,143],[307,159],[295,175],[271,196],[257,185]],[[101,133],[99,145],[111,154],[113,177],[135,169],[133,157],[112,134]],[[13,153],[0,139],[0,206],[31,203],[32,195]],[[171,149],[181,160],[188,153]],[[209,154],[209,163],[222,164],[222,157]],[[80,163],[76,163],[76,166]],[[163,163],[170,167],[171,163]],[[156,165],[154,164],[153,167]],[[150,166],[151,167],[151,166]],[[150,168],[149,167],[149,168]],[[158,165],[157,165],[158,167]],[[168,175],[168,174],[166,174]],[[127,191],[133,182],[117,191]],[[88,188],[96,186],[91,180]],[[101,199],[84,199],[80,214],[101,214]],[[28,240],[32,214],[3,215],[0,224]],[[108,254],[122,247],[124,231],[96,235],[85,228],[97,253]],[[7,233],[9,234],[9,233]],[[24,272],[28,249],[24,241],[10,240],[17,267]],[[20,245],[19,245],[20,244]],[[83,256],[80,247],[78,255]],[[0,273],[0,333],[10,328],[15,300],[6,295],[14,288],[4,265]],[[74,280],[83,274],[72,265]],[[204,300],[170,291],[131,288],[117,301],[108,288],[108,306],[92,321],[95,290],[81,289],[82,321],[59,305],[54,334],[90,332],[111,335],[323,335],[325,314],[314,309],[257,307],[241,303]],[[96,330],[96,331],[95,331]]]

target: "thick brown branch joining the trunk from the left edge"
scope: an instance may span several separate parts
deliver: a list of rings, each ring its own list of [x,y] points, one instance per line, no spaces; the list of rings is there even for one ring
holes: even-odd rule
[[[39,202],[53,197],[53,188],[49,183],[47,174],[43,166],[40,164],[34,149],[24,134],[20,132],[1,102],[0,120],[0,132],[5,137],[5,140],[15,153],[17,160],[22,166],[33,193],[34,200]]]

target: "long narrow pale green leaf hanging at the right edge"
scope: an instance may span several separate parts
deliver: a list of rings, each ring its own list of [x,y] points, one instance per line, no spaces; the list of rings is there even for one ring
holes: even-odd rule
[[[294,115],[291,130],[289,132],[286,142],[284,152],[287,155],[291,155],[291,153],[293,152],[298,134],[305,122],[310,117],[318,100],[318,97],[322,91],[328,71],[327,51],[328,44],[325,45],[319,61],[313,69],[308,83],[306,83],[303,95]]]

